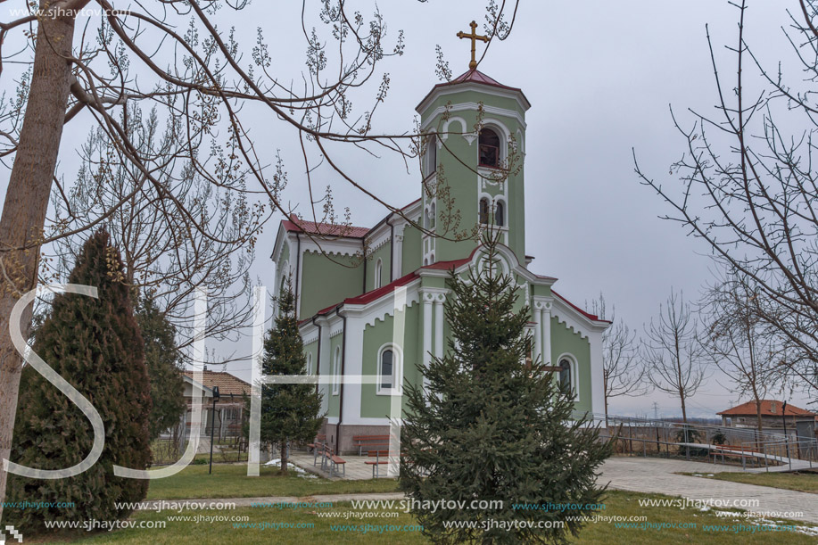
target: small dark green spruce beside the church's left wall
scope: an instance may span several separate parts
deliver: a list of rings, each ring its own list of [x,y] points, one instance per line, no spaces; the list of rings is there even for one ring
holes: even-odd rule
[[[289,281],[278,296],[276,326],[264,339],[264,375],[306,375],[307,360]],[[287,443],[309,442],[321,427],[321,394],[313,384],[265,384],[261,390],[261,442],[276,444],[287,472]],[[249,410],[248,410],[249,413]]]

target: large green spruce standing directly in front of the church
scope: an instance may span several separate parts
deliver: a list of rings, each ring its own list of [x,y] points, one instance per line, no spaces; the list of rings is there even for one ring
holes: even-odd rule
[[[599,430],[572,419],[574,397],[540,362],[526,365],[527,306],[516,309],[516,282],[500,274],[496,242],[485,239],[482,272],[450,277],[445,314],[448,351],[421,368],[424,390],[408,384],[402,427],[401,489],[436,543],[562,543],[603,493],[595,470],[609,453]],[[491,265],[489,265],[491,264]],[[429,500],[501,500],[501,508],[427,508]],[[565,510],[514,504],[579,504]],[[450,521],[476,528],[446,528]],[[533,527],[500,524],[533,521]],[[538,528],[538,521],[565,523]],[[485,525],[485,526],[484,526]],[[491,527],[494,525],[494,527]],[[558,524],[555,524],[558,525]]]

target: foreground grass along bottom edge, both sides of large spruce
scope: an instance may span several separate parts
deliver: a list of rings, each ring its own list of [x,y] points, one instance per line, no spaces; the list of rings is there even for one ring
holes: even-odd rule
[[[667,498],[657,494],[640,494],[627,491],[610,491],[605,500],[605,516],[648,516],[652,524],[679,524],[693,523],[696,528],[661,530],[640,528],[617,528],[615,524],[599,522],[588,524],[580,533],[578,539],[572,543],[591,545],[598,543],[627,543],[628,545],[656,545],[657,543],[714,543],[715,545],[756,545],[761,543],[788,543],[800,545],[814,543],[815,537],[799,533],[749,533],[749,532],[706,532],[705,524],[722,524],[732,526],[739,524],[740,518],[719,518],[712,511],[701,512],[692,509],[678,508],[642,508],[640,499]],[[337,504],[332,509],[320,509],[322,512],[351,511],[350,504]],[[231,511],[197,512],[198,515],[222,516],[249,516],[251,523],[291,523],[314,524],[313,528],[283,528],[279,530],[260,530],[254,528],[234,528],[233,522],[205,522],[195,524],[190,521],[168,521],[169,516],[178,516],[176,513],[139,512],[132,520],[139,521],[168,521],[164,529],[128,529],[113,533],[99,533],[96,535],[75,536],[72,540],[63,541],[77,543],[128,543],[139,544],[195,544],[203,543],[306,543],[332,541],[333,545],[340,543],[365,543],[369,541],[388,541],[397,544],[428,543],[429,541],[419,532],[384,532],[380,534],[369,532],[344,532],[333,530],[331,524],[336,525],[363,525],[363,524],[392,524],[414,525],[417,521],[413,516],[401,513],[392,518],[377,516],[363,520],[344,520],[343,518],[323,518],[317,515],[317,509],[284,509],[276,508],[239,508]],[[187,512],[184,515],[194,515]],[[746,524],[747,523],[743,523]],[[30,542],[30,541],[26,541]]]

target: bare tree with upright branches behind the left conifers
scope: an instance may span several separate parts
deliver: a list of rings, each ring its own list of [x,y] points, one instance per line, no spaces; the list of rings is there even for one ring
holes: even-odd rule
[[[252,316],[252,285],[248,269],[255,253],[255,237],[269,218],[265,206],[250,203],[245,192],[220,190],[220,186],[244,183],[245,172],[235,149],[211,148],[207,161],[220,162],[219,185],[200,178],[192,161],[180,149],[185,146],[178,120],[159,120],[154,108],[147,115],[137,106],[128,108],[128,138],[150,161],[161,184],[184,203],[184,210],[208,235],[190,229],[179,209],[164,206],[145,175],[132,163],[120,161],[115,144],[101,128],[95,128],[79,150],[82,165],[65,198],[53,194],[53,230],[73,235],[55,241],[54,253],[62,270],[70,269],[92,232],[83,228],[102,224],[122,253],[124,282],[140,295],[149,295],[164,318],[174,326],[178,348],[193,341],[193,294],[208,294],[209,338],[235,338]],[[199,161],[205,161],[202,154]],[[277,192],[286,176],[277,165],[273,183]],[[46,251],[46,254],[49,253]],[[45,262],[41,276],[47,276]]]

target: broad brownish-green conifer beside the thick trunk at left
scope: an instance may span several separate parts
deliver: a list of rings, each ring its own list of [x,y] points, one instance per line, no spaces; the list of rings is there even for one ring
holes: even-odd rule
[[[117,507],[116,502],[145,499],[147,481],[113,475],[114,464],[145,469],[151,461],[150,383],[123,278],[120,254],[109,245],[109,235],[96,233],[83,246],[69,282],[95,286],[98,299],[54,295],[33,344],[33,350],[99,412],[105,428],[103,453],[93,467],[70,478],[10,475],[8,501],[73,502],[73,507],[6,508],[5,524],[39,533],[45,530],[45,520],[116,520],[132,510]],[[87,456],[94,432],[76,405],[29,366],[23,368],[20,392],[12,461],[62,469]]]

